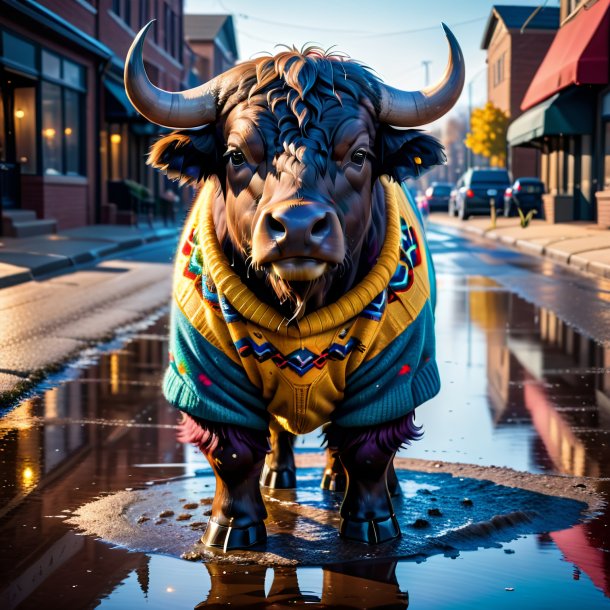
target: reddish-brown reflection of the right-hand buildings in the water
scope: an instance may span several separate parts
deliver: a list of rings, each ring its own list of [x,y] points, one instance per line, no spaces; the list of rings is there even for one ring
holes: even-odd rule
[[[487,382],[496,426],[531,421],[534,460],[559,474],[610,475],[610,349],[553,312],[504,291],[470,292],[472,320],[486,333]],[[607,481],[591,485],[608,497]],[[610,596],[610,513],[551,534],[575,577]]]

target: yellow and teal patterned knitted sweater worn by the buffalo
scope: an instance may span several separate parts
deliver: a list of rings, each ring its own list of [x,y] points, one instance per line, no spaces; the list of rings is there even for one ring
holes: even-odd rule
[[[381,183],[387,228],[377,262],[336,302],[290,325],[232,270],[214,228],[215,185],[204,185],[176,260],[170,403],[258,430],[272,417],[303,434],[328,421],[388,422],[438,392],[423,230],[400,186]]]

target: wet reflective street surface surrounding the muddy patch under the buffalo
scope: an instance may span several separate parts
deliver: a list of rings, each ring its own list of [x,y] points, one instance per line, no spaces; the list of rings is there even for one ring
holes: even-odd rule
[[[588,477],[583,485],[607,497],[610,282],[448,229],[432,226],[428,236],[443,387],[418,409],[424,439],[401,457]],[[168,256],[130,255],[134,264]],[[212,493],[205,461],[175,441],[176,415],[160,395],[166,334],[160,311],[3,414],[0,607],[610,607],[607,509],[562,523],[544,514],[562,509],[548,507],[533,529],[457,551],[372,558],[355,550],[308,566],[188,562],[81,535],[67,520],[114,492],[188,481],[201,497]],[[315,434],[298,440],[299,456],[319,452]],[[315,491],[318,470],[299,479],[312,514],[340,501]],[[430,476],[401,474],[403,489],[442,487]],[[198,510],[196,522],[205,521],[205,505]],[[408,502],[401,510],[409,521]]]

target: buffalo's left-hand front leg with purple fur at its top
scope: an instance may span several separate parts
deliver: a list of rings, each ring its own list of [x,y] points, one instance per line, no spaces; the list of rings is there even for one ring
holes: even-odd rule
[[[266,434],[187,416],[179,439],[201,449],[216,477],[212,514],[201,542],[225,551],[264,542],[267,510],[259,477],[268,451]]]

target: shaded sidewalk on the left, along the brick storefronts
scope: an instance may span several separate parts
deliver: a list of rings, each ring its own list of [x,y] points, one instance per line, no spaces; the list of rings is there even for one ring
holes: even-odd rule
[[[77,265],[171,239],[178,227],[90,225],[37,237],[0,237],[0,288],[68,270]]]

